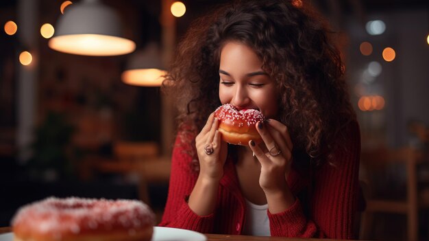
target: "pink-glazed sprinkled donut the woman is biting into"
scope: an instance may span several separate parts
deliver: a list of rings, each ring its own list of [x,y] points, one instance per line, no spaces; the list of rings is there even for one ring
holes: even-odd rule
[[[222,133],[223,141],[242,146],[249,146],[250,140],[256,143],[262,141],[255,127],[257,122],[265,120],[260,111],[238,110],[232,104],[224,104],[216,109],[215,117],[219,119],[218,130]]]

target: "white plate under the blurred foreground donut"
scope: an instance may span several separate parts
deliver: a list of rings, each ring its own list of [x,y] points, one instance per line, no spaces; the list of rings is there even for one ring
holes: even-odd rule
[[[13,233],[0,234],[0,241],[13,241]],[[206,241],[202,233],[186,229],[174,229],[169,227],[154,227],[152,241]]]

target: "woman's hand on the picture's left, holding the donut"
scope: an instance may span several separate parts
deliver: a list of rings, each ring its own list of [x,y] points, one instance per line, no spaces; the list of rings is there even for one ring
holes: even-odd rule
[[[206,125],[195,138],[195,146],[199,159],[199,177],[210,181],[220,181],[223,176],[223,165],[228,153],[228,144],[221,141],[221,133],[217,131],[219,120],[212,113]],[[213,148],[211,154],[207,154],[205,148]]]

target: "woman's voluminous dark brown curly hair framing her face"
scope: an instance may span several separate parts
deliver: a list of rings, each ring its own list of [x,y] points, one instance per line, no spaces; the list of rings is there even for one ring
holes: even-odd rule
[[[239,41],[254,49],[262,69],[278,84],[279,120],[288,126],[294,149],[306,152],[316,165],[329,161],[339,131],[356,119],[332,33],[299,0],[236,1],[197,19],[163,84],[177,97],[179,129],[197,135],[221,105],[221,48]]]

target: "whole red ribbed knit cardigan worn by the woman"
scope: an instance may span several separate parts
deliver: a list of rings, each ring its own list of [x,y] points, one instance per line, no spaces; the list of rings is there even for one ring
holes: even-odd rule
[[[360,133],[356,122],[343,131],[347,139],[334,146],[333,165],[326,163],[313,172],[311,178],[291,170],[287,182],[297,198],[289,209],[280,214],[267,211],[271,236],[355,238],[352,229],[358,209]],[[225,163],[215,211],[207,216],[198,216],[186,203],[198,174],[191,168],[192,157],[188,154],[191,147],[184,146],[186,142],[179,136],[171,161],[167,204],[159,226],[200,233],[241,234],[246,205],[234,163],[230,159]],[[308,193],[306,198],[299,198],[302,191]]]

